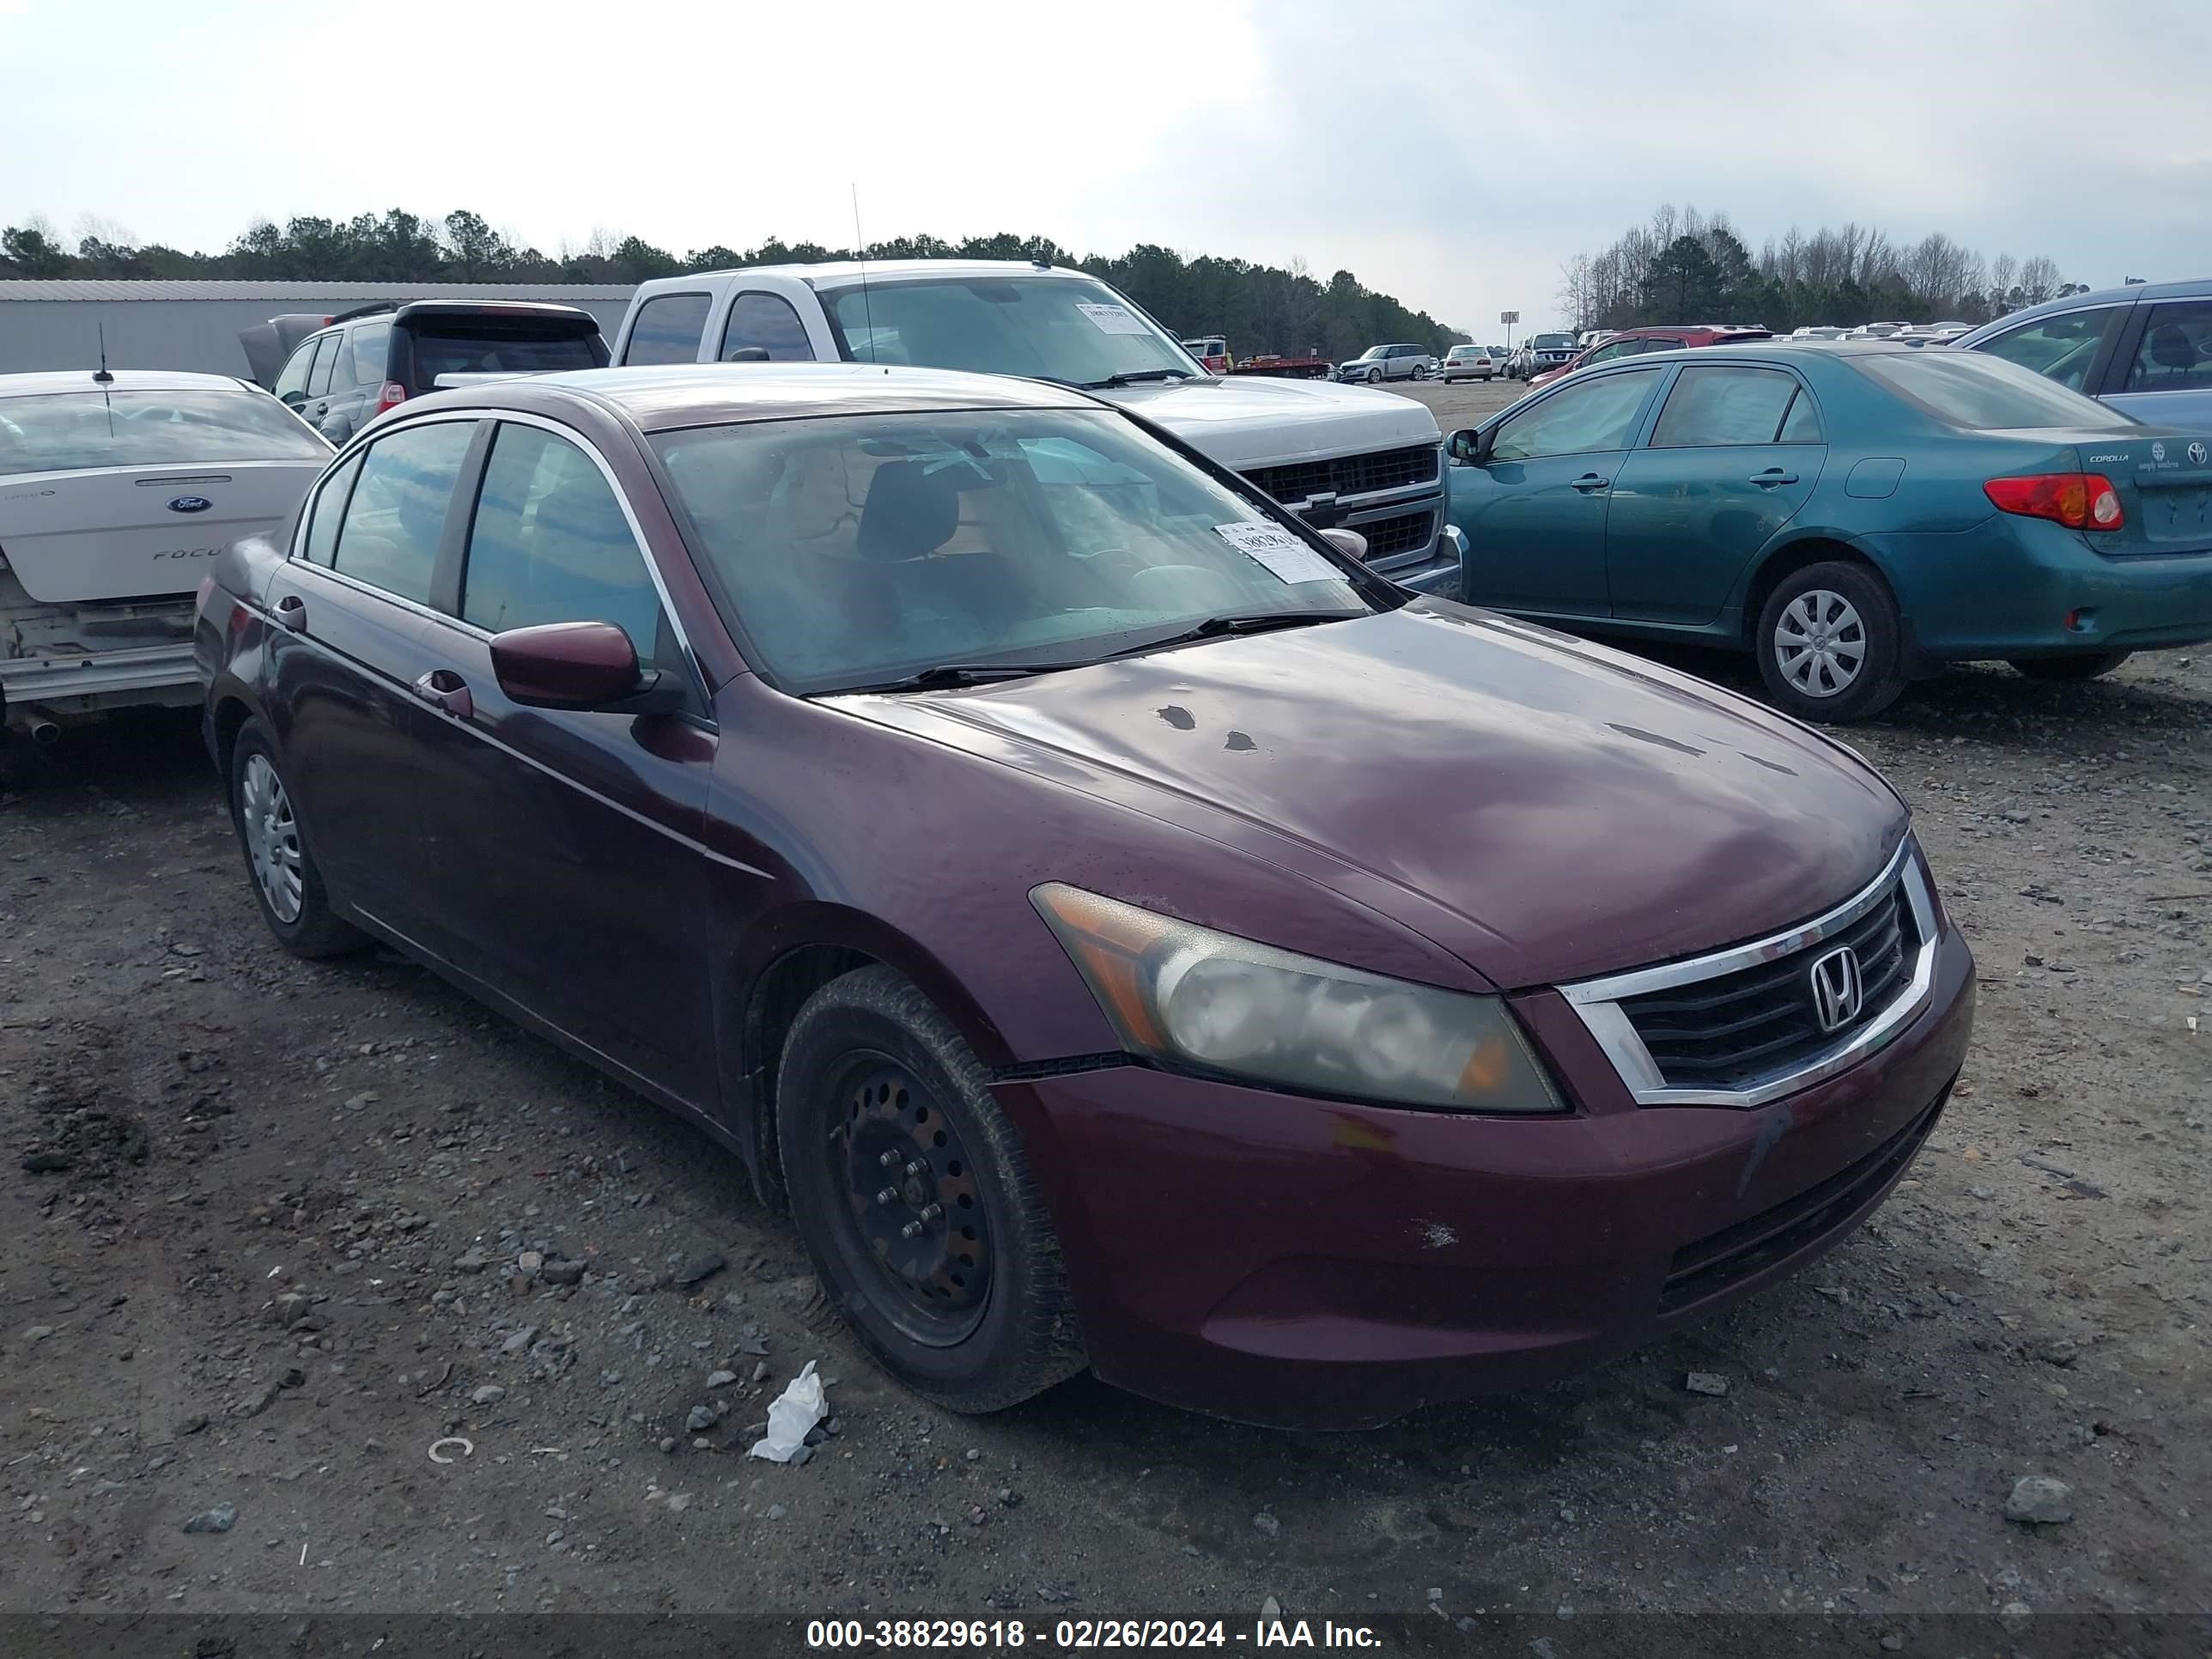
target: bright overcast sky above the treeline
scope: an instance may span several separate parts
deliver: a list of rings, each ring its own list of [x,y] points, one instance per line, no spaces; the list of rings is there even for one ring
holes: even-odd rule
[[[843,246],[858,184],[869,239],[1303,259],[1482,336],[1659,201],[2212,276],[2212,0],[0,0],[0,221],[69,239]]]

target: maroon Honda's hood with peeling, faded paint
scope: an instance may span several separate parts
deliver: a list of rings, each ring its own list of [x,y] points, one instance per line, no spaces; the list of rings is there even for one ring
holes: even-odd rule
[[[1778,931],[1865,887],[1907,827],[1889,785],[1809,728],[1429,599],[832,701],[1298,869],[1502,989]]]

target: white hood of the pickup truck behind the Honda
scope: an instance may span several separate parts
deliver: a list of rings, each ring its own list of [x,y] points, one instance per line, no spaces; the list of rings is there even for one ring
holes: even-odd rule
[[[1110,387],[1097,396],[1157,420],[1230,471],[1442,442],[1425,403],[1332,380],[1254,374]]]

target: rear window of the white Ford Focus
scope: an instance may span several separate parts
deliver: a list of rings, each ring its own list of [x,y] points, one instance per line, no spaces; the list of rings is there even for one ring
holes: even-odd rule
[[[0,398],[0,476],[327,456],[330,445],[265,392]]]

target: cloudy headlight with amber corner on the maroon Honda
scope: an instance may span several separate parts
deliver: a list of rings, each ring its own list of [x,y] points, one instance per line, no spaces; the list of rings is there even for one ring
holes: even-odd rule
[[[1566,1110],[1498,998],[1292,956],[1062,883],[1031,902],[1130,1053],[1314,1095]]]

